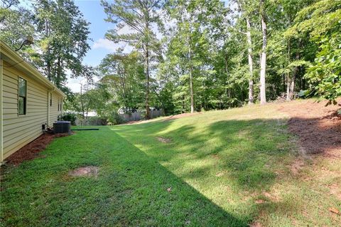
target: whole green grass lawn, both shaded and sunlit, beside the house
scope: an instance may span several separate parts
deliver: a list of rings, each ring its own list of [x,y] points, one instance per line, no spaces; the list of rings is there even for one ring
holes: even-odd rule
[[[79,131],[1,169],[1,226],[340,226],[340,162],[297,151],[276,105]]]

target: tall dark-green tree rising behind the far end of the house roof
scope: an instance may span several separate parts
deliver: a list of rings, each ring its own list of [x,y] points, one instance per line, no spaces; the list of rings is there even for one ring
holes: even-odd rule
[[[63,88],[66,70],[72,77],[87,74],[82,58],[90,49],[89,25],[72,0],[39,0],[33,3],[36,41],[40,51],[32,60],[49,80]]]

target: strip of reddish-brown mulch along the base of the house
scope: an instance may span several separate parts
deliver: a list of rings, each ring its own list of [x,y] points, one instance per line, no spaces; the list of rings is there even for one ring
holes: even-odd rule
[[[11,154],[10,157],[6,158],[6,162],[13,165],[21,164],[21,162],[25,160],[35,159],[39,156],[39,152],[42,152],[50,142],[53,141],[56,137],[66,137],[68,133],[60,133],[60,134],[42,134],[37,139],[34,139],[29,144],[26,144],[21,149],[18,149],[17,152]]]

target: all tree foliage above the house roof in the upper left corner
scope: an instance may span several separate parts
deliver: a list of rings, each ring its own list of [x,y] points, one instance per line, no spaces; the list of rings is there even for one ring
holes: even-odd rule
[[[82,65],[90,49],[89,25],[72,0],[32,1],[27,9],[5,0],[0,8],[1,40],[16,49],[33,36],[33,45],[24,46],[21,54],[62,90],[67,70],[73,78],[89,76],[91,69]]]

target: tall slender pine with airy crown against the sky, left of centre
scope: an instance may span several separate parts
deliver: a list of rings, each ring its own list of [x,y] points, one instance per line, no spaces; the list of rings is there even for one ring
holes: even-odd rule
[[[104,11],[107,14],[108,22],[115,23],[116,29],[109,30],[106,38],[116,43],[123,41],[141,50],[144,55],[144,73],[146,76],[145,105],[146,118],[150,118],[149,110],[149,83],[150,83],[150,61],[153,59],[153,52],[158,51],[158,41],[153,32],[153,26],[161,24],[157,10],[161,8],[161,0],[115,0],[112,4],[102,0]],[[129,27],[133,33],[119,34],[124,26]]]

